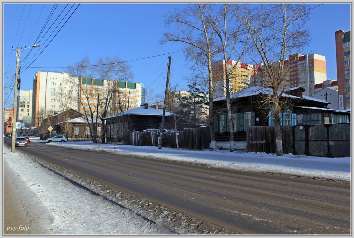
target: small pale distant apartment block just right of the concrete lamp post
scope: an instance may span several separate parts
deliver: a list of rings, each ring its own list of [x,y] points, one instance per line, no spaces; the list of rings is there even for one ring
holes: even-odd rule
[[[32,124],[32,90],[20,90],[17,95],[17,122]]]

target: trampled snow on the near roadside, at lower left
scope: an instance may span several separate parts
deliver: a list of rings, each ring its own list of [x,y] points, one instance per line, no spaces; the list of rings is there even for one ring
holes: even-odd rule
[[[30,139],[31,142],[35,140]],[[4,146],[4,163],[6,168],[10,168],[9,172],[16,176],[15,178],[19,178],[30,188],[27,196],[38,198],[38,203],[44,205],[42,212],[50,214],[50,227],[44,227],[50,234],[170,233],[161,230],[155,224],[150,224],[132,211],[93,195],[38,163],[33,163],[19,150],[12,153],[10,147]],[[27,211],[31,213],[31,208],[28,207]]]

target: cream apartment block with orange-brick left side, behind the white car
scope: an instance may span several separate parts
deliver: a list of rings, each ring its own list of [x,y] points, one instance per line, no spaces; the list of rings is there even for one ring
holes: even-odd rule
[[[78,107],[78,78],[67,72],[38,71],[33,77],[32,126],[57,111]]]

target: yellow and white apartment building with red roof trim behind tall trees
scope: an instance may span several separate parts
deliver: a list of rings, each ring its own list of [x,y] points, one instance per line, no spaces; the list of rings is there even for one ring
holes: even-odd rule
[[[214,98],[224,97],[226,95],[226,74],[225,69],[230,72],[229,89],[230,93],[241,91],[249,87],[253,82],[254,68],[253,65],[229,60],[225,64],[224,60],[212,63],[212,82],[214,87]],[[252,77],[252,79],[251,79]]]

